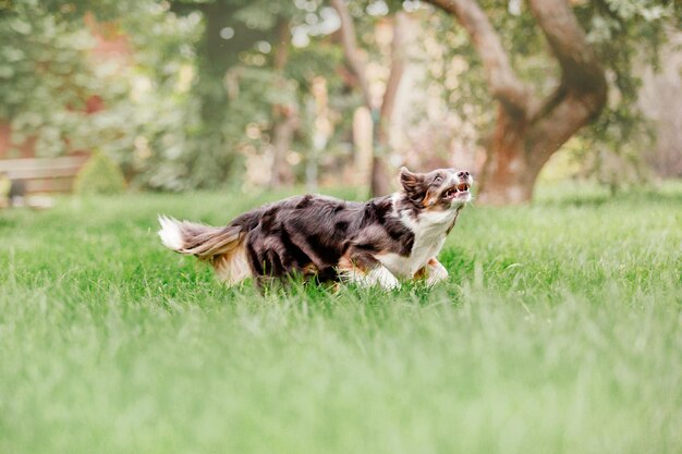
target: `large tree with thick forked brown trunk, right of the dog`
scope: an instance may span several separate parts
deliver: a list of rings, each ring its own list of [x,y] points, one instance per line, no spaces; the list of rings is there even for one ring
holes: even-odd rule
[[[617,63],[608,61],[609,50],[613,54],[619,45],[632,49],[638,44],[631,38],[625,42],[619,41],[613,46],[616,49],[611,49],[608,39],[588,39],[585,25],[592,24],[590,32],[594,32],[599,25],[595,19],[608,12],[622,16],[634,10],[636,14],[630,13],[628,17],[630,26],[635,21],[651,23],[651,14],[656,16],[653,19],[663,15],[657,12],[656,8],[660,7],[614,0],[597,1],[598,8],[590,2],[579,11],[579,17],[565,0],[528,0],[534,23],[543,32],[560,72],[556,87],[543,96],[517,75],[500,36],[478,2],[427,1],[453,15],[466,30],[480,59],[488,93],[497,101],[494,131],[485,144],[487,160],[479,177],[479,199],[498,205],[520,204],[532,198],[535,181],[552,154],[583,126],[594,122],[605,109],[608,91],[605,66],[609,70],[617,68]],[[488,9],[496,8],[489,5]],[[499,8],[497,10],[499,13]],[[508,13],[503,11],[502,14]],[[524,26],[528,27],[528,24]],[[527,30],[521,36],[525,40],[535,39]],[[654,33],[651,39],[657,36]],[[600,44],[597,49],[595,41]],[[631,69],[631,61],[625,63]],[[617,76],[621,76],[620,79],[617,77],[617,82],[622,82],[619,88],[630,76],[629,71],[622,70],[620,74],[613,70]]]

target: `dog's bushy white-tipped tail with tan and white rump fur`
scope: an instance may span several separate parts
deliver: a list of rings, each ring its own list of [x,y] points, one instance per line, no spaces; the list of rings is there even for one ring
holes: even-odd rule
[[[215,228],[165,216],[159,216],[159,237],[166,247],[208,261],[221,280],[236,283],[248,275],[242,226]]]

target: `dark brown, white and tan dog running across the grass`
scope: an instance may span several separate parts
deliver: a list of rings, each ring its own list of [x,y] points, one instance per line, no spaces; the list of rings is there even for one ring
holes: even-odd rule
[[[448,278],[438,261],[460,210],[471,201],[467,171],[400,170],[402,191],[367,203],[291,197],[241,214],[222,228],[159,216],[163,245],[212,265],[229,285],[301,275],[319,282],[399,289]]]

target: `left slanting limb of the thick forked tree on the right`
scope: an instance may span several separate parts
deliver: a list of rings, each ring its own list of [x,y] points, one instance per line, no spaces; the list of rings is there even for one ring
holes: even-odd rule
[[[531,105],[531,90],[516,77],[500,37],[475,0],[426,0],[453,14],[468,33],[483,61],[490,95],[512,114],[525,114]]]

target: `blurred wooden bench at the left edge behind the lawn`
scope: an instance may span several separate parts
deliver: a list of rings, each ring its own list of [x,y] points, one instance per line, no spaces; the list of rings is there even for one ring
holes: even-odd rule
[[[0,159],[0,174],[22,182],[26,194],[69,193],[87,155],[61,158]]]

